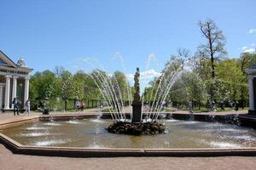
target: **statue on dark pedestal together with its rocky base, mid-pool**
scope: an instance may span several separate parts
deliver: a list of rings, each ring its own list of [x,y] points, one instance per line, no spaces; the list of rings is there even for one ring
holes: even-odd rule
[[[122,133],[130,135],[143,135],[143,134],[158,134],[164,133],[166,126],[164,123],[157,122],[157,117],[154,121],[143,122],[142,101],[140,97],[140,84],[139,84],[140,71],[134,75],[134,99],[132,102],[132,117],[131,122],[119,121],[113,122],[107,130],[109,133]],[[150,119],[149,119],[150,120]],[[153,120],[153,119],[151,119]]]

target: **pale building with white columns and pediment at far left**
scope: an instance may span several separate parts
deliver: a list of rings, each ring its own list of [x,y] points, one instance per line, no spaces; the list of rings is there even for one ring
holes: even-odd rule
[[[0,109],[14,108],[13,99],[16,97],[21,106],[25,105],[29,92],[29,73],[25,60],[20,58],[15,64],[0,50]]]

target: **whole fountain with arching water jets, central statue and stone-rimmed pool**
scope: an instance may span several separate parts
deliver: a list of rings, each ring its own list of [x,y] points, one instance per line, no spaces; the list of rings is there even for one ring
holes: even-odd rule
[[[125,96],[119,93],[117,80],[104,71],[95,70],[89,76],[96,82],[109,112],[99,111],[94,116],[39,116],[33,123],[3,129],[3,135],[9,138],[3,139],[0,133],[0,140],[12,139],[9,143],[15,147],[13,150],[38,155],[195,156],[197,153],[198,156],[237,156],[250,150],[255,156],[256,130],[247,125],[256,127],[245,117],[192,114],[191,104],[191,114],[162,110],[166,96],[183,74],[183,65],[174,71],[168,68],[166,65],[154,82],[151,91],[154,93],[148,94],[146,105],[143,105],[144,96],[140,95],[140,71],[137,68],[133,100],[130,86],[126,89],[132,111],[126,111]],[[162,113],[165,116],[160,120]],[[16,143],[12,144],[12,141]],[[16,146],[17,143],[20,145]],[[236,151],[238,148],[244,151]]]

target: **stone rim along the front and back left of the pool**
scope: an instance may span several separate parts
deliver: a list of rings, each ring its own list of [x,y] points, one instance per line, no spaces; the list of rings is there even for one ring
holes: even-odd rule
[[[69,118],[69,117],[95,117],[88,115],[66,115],[66,116],[38,116],[20,122],[28,122],[38,119]],[[15,123],[9,122],[11,127]],[[0,125],[1,127],[2,125]],[[6,126],[6,124],[5,124]],[[15,154],[33,156],[66,156],[66,157],[124,157],[124,156],[256,156],[256,147],[251,148],[199,148],[199,149],[92,149],[84,147],[55,147],[55,146],[32,146],[23,145],[14,139],[0,133],[0,143],[4,144]]]

